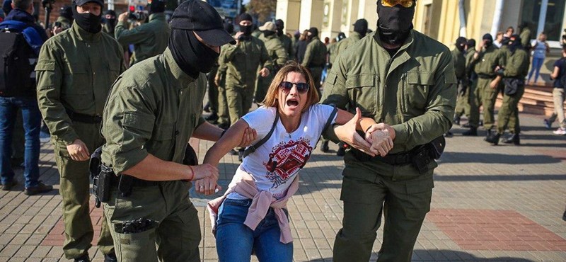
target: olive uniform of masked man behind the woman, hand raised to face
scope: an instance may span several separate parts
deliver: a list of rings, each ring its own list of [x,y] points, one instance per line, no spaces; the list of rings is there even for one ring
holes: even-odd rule
[[[225,54],[220,58],[226,64],[226,100],[233,125],[252,106],[258,67],[262,65],[272,71],[272,61],[262,40],[253,36],[224,47]]]

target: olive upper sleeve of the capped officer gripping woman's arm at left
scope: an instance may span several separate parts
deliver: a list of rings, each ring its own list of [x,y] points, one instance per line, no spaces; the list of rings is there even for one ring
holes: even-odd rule
[[[127,86],[119,79],[106,102],[102,135],[104,151],[110,156],[115,173],[137,165],[149,154],[144,145],[151,138],[155,125],[156,101],[150,92]]]

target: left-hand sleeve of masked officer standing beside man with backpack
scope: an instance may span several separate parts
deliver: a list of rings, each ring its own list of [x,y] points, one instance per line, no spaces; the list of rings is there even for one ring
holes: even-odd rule
[[[71,119],[61,101],[61,89],[64,84],[62,56],[52,42],[41,48],[35,66],[37,104],[51,135],[65,144],[72,144],[79,135],[73,129]]]

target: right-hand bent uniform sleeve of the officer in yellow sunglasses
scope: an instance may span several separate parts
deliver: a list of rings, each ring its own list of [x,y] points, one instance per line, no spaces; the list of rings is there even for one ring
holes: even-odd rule
[[[434,85],[430,86],[426,111],[423,115],[411,118],[405,123],[393,125],[393,143],[405,144],[413,148],[437,138],[452,126],[456,106],[456,74],[454,63],[448,50],[444,51],[434,74]]]

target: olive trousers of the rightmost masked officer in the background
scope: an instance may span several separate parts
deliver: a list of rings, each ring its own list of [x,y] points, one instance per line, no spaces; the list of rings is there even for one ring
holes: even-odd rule
[[[519,105],[523,93],[525,93],[525,86],[519,87],[512,96],[503,95],[503,103],[497,113],[498,134],[503,134],[507,127],[513,134],[521,132],[521,127],[519,127],[519,108],[517,108],[517,105]]]

